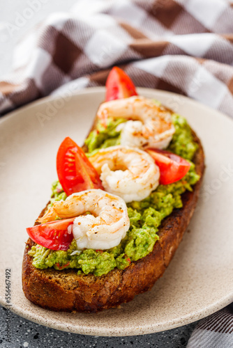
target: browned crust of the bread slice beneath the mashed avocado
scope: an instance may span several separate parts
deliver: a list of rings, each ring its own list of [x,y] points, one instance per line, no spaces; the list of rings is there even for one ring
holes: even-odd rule
[[[193,159],[200,180],[193,191],[182,195],[183,207],[174,209],[163,220],[158,235],[160,239],[146,257],[131,262],[124,270],[113,269],[103,276],[77,275],[75,269],[57,271],[54,268],[37,269],[28,251],[33,246],[29,238],[22,264],[22,286],[31,302],[42,308],[66,312],[97,312],[133,300],[146,292],[163,276],[181,242],[197,203],[204,173],[204,151],[200,139],[193,132],[199,148]],[[42,212],[43,214],[43,212]]]

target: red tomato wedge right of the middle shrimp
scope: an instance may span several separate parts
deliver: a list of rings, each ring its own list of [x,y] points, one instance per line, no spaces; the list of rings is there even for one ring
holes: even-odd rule
[[[190,163],[186,159],[172,152],[157,149],[146,149],[146,151],[160,168],[160,184],[167,185],[181,180],[190,169]]]

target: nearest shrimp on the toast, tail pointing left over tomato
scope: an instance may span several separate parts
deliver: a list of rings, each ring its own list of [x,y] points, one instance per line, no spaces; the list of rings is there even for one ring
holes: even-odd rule
[[[91,214],[84,213],[90,212]],[[122,198],[100,189],[73,193],[66,200],[55,201],[40,222],[75,217],[73,236],[77,249],[105,250],[119,245],[130,227],[126,203]]]

